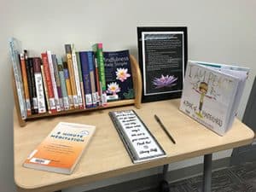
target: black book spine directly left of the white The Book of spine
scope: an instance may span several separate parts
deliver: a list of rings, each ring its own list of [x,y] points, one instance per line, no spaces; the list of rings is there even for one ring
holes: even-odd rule
[[[34,75],[34,68],[33,68],[33,59],[28,58],[27,61],[28,61],[29,70],[31,73],[33,109],[34,109],[34,113],[37,114],[38,113],[38,96],[37,96],[36,82],[35,82],[35,75]]]

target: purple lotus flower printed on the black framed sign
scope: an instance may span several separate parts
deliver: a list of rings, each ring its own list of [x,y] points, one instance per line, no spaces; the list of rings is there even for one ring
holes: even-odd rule
[[[154,78],[152,83],[155,85],[154,89],[159,89],[163,87],[172,87],[176,85],[177,78],[173,75],[161,75],[160,78]]]

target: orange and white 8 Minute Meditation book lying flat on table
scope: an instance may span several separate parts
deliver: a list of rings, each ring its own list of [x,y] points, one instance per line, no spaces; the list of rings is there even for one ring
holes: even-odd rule
[[[71,174],[96,127],[60,122],[42,143],[28,155],[23,166],[62,174]]]

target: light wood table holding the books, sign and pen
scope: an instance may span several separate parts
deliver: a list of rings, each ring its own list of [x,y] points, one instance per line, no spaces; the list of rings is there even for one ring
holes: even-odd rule
[[[224,137],[208,130],[178,110],[179,100],[144,103],[141,109],[133,106],[110,108],[88,113],[38,119],[25,127],[18,125],[14,115],[15,183],[19,191],[55,191],[67,187],[90,183],[129,172],[138,172],[154,166],[163,166],[179,160],[205,155],[207,183],[211,183],[212,153],[236,148],[253,142],[254,133],[238,119]],[[132,164],[111,119],[109,111],[134,109],[148,126],[167,157],[142,164]],[[160,129],[154,114],[162,119],[172,137]],[[96,134],[72,175],[43,172],[22,166],[28,154],[38,146],[49,132],[60,122],[96,125]],[[209,180],[210,179],[210,180]],[[209,186],[208,186],[209,187]]]

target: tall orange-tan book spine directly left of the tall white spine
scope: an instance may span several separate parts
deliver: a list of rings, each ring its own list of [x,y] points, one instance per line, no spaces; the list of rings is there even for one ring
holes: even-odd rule
[[[74,72],[73,72],[71,45],[65,44],[65,50],[66,50],[66,55],[67,55],[68,74],[69,74],[69,79],[70,79],[70,84],[71,84],[72,95],[73,95],[73,105],[74,105],[74,108],[79,108],[78,94],[77,94],[77,88],[76,88]]]

